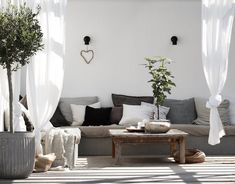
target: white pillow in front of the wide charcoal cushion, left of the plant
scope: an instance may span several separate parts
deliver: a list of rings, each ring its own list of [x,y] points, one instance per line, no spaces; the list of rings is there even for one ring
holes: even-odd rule
[[[123,104],[123,115],[119,125],[137,125],[143,120],[150,120],[153,110],[144,105],[126,105]]]

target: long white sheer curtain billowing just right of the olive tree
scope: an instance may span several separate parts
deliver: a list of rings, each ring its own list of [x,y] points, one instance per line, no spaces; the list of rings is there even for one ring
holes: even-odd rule
[[[44,34],[44,50],[38,52],[27,67],[26,93],[35,127],[36,153],[41,154],[40,131],[50,124],[63,86],[64,16],[67,2],[37,0],[36,3],[41,6],[39,21]]]

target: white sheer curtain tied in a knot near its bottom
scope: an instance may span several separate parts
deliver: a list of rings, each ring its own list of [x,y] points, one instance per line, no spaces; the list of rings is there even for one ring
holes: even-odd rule
[[[208,139],[211,145],[219,144],[225,135],[217,107],[227,77],[233,17],[233,0],[202,0],[202,63],[211,93],[207,102],[211,109]]]

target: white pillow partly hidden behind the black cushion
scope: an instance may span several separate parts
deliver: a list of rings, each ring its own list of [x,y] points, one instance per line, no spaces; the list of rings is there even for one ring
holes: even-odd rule
[[[97,102],[88,106],[93,108],[101,108],[101,103]],[[82,123],[85,120],[86,105],[70,104],[70,107],[72,109],[72,114],[73,114],[72,125],[79,125],[79,126],[82,125]]]

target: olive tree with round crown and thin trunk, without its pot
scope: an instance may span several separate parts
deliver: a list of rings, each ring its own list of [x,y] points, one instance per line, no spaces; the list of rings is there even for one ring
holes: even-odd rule
[[[10,3],[0,10],[0,65],[7,70],[9,86],[10,132],[13,130],[12,72],[30,62],[30,57],[43,49],[43,33],[36,12],[23,5]]]

